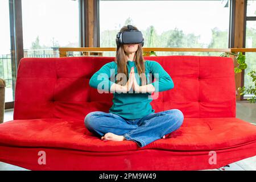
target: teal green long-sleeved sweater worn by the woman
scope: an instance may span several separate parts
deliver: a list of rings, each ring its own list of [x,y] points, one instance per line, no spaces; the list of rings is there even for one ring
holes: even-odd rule
[[[145,73],[148,84],[150,84],[150,76],[148,73],[152,73],[151,82],[156,78],[152,85],[155,86],[155,92],[162,92],[174,88],[174,82],[163,67],[156,61],[145,61]],[[137,68],[134,61],[127,61],[128,72],[130,73],[131,67],[134,66],[134,72],[137,72]],[[114,74],[115,73],[115,74]],[[159,74],[154,75],[155,73]],[[89,85],[92,88],[101,90],[101,92],[110,92],[110,86],[114,84],[115,76],[117,75],[117,64],[112,61],[103,65],[90,78]],[[135,74],[138,85],[141,85],[141,78],[138,74]],[[110,80],[109,80],[110,79]],[[110,107],[109,112],[118,114],[125,119],[138,119],[146,116],[147,114],[154,113],[150,102],[152,101],[151,93],[113,93],[113,105]]]

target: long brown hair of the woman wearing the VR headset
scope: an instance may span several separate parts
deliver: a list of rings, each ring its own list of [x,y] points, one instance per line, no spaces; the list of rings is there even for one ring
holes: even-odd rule
[[[129,30],[127,26],[123,26],[120,30],[120,32],[123,31],[127,31]],[[134,27],[134,30],[138,30],[137,27]],[[146,75],[145,75],[145,65],[144,65],[144,59],[143,59],[143,51],[142,51],[142,45],[138,44],[138,49],[134,54],[134,61],[135,61],[135,65],[137,67],[138,70],[138,75],[141,76],[141,82],[142,85],[146,85]],[[115,63],[117,63],[117,69],[118,72],[117,73],[123,73],[126,75],[127,81],[128,81],[128,69],[126,67],[126,61],[127,61],[127,57],[126,57],[126,52],[125,49],[123,48],[123,44],[120,44],[119,46],[117,46],[117,52],[116,52],[116,56],[115,56]],[[121,74],[117,75],[117,84],[118,82],[121,81],[122,85],[125,85],[126,82],[121,80],[122,76]]]

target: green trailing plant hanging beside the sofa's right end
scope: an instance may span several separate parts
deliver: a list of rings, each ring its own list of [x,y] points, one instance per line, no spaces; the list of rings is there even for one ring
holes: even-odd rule
[[[224,52],[220,56],[222,57],[229,57],[229,55],[234,55],[236,56],[238,67],[234,68],[235,73],[240,73],[242,72],[242,69],[247,68],[247,64],[245,63],[245,55],[242,54],[242,52]],[[247,88],[245,86],[239,87],[238,90],[240,91],[240,95],[243,94],[252,94],[253,96],[251,98],[247,98],[247,101],[250,101],[250,103],[255,103],[256,102],[256,73],[255,71],[249,72],[247,75],[251,77],[253,80],[254,86],[248,86]]]

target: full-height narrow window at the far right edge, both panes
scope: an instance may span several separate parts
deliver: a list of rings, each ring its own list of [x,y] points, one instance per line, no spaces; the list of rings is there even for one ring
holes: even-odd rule
[[[246,38],[245,47],[255,48],[256,47],[256,1],[247,1],[246,9]],[[256,52],[246,52],[246,63],[247,68],[245,69],[244,85],[253,86],[253,80],[248,73],[252,70],[256,71]],[[245,95],[244,97],[250,97]]]

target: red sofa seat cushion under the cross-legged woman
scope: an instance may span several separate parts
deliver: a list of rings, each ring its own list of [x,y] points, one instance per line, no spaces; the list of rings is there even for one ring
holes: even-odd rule
[[[130,140],[101,140],[77,119],[16,119],[0,125],[2,146],[52,147],[119,152],[158,148],[171,151],[209,151],[256,142],[256,126],[238,118],[185,118],[180,129],[166,139],[140,148]]]

